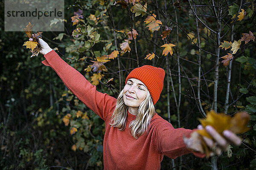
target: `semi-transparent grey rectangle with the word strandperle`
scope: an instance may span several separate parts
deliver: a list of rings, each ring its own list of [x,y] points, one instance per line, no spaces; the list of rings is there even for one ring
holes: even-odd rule
[[[5,0],[5,31],[64,31],[64,0]]]

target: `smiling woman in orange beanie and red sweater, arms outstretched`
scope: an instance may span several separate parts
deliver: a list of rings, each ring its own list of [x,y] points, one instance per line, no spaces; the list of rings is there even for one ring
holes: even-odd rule
[[[190,142],[186,146],[183,137],[189,137],[195,130],[174,129],[155,113],[154,104],[163,90],[165,72],[162,68],[150,65],[135,68],[115,99],[96,91],[96,86],[64,62],[44,40],[39,42],[40,53],[46,58],[42,63],[52,67],[67,88],[105,121],[105,170],[160,170],[163,155],[175,159],[192,152]],[[226,138],[223,138],[212,127],[206,129],[216,141],[204,138],[212,155],[227,150],[229,143],[241,143],[239,137],[228,130],[224,131]],[[204,157],[202,153],[192,153]]]

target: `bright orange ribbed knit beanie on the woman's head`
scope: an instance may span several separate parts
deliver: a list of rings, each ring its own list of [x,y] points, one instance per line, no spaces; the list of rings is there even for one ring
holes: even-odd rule
[[[142,67],[135,68],[131,71],[126,78],[125,84],[130,78],[142,81],[147,86],[155,105],[163,90],[164,75],[165,71],[163,68],[157,68],[152,65],[143,65]]]

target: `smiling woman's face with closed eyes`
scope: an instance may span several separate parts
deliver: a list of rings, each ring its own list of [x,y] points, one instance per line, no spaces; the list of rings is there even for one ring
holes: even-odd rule
[[[147,93],[148,88],[142,81],[135,78],[128,79],[123,94],[125,105],[132,108],[139,107],[145,100]]]

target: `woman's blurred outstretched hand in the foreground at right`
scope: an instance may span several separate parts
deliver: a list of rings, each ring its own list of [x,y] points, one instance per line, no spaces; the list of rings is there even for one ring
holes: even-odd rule
[[[203,129],[203,126],[198,125],[198,129]],[[236,134],[230,130],[224,130],[222,134],[224,136],[223,137],[212,126],[208,125],[205,129],[213,139],[209,139],[205,136],[199,135],[197,132],[193,132],[190,138],[184,139],[184,142],[189,149],[205,153],[208,157],[221,155],[222,151],[228,150],[229,144],[235,144],[237,146],[241,144],[239,136],[236,136]],[[205,150],[205,147],[207,147],[208,151]]]

